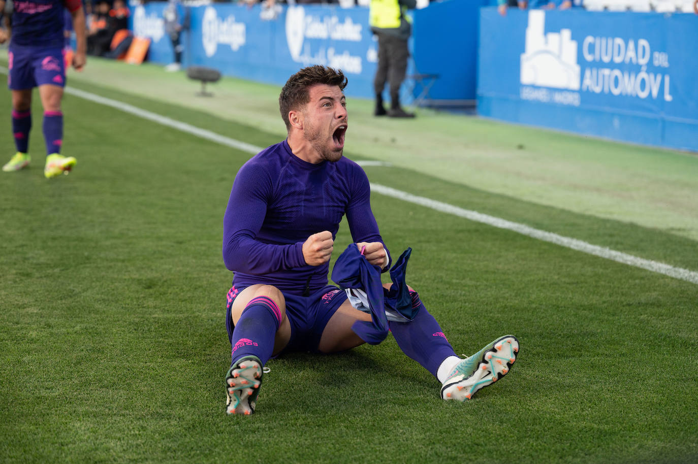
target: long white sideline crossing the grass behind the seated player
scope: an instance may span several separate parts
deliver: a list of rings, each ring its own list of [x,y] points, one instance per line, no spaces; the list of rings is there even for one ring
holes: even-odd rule
[[[6,69],[0,66],[0,72],[6,73]],[[218,144],[225,145],[226,147],[239,149],[240,151],[245,151],[249,154],[255,155],[262,150],[262,147],[255,147],[254,145],[245,142],[240,142],[239,140],[231,139],[230,137],[225,137],[224,135],[213,133],[210,130],[205,130],[195,126],[191,126],[191,124],[186,124],[181,121],[175,121],[174,119],[162,116],[161,114],[156,114],[147,110],[142,110],[139,107],[128,105],[127,103],[122,103],[117,100],[112,100],[111,98],[98,96],[94,93],[82,91],[80,89],[74,89],[73,87],[66,87],[65,91],[66,93],[70,93],[71,95],[75,95],[86,100],[91,100],[95,103],[101,103],[102,105],[114,107],[117,108],[117,110],[133,114],[143,119],[148,119],[149,121],[162,124],[163,126],[169,126],[177,130],[181,130],[181,132],[196,135],[198,137],[201,137],[202,139],[210,140],[211,142],[216,142]],[[528,227],[528,225],[513,223],[510,220],[505,220],[502,218],[497,218],[495,216],[489,216],[487,214],[478,213],[477,211],[472,211],[470,209],[454,207],[452,204],[438,202],[436,200],[431,200],[426,197],[418,197],[417,195],[412,195],[411,193],[396,190],[394,188],[390,188],[380,184],[371,183],[371,190],[380,193],[381,195],[386,195],[388,197],[397,198],[398,200],[419,204],[423,207],[431,208],[436,211],[441,211],[446,214],[452,214],[454,216],[459,216],[461,218],[473,220],[478,223],[484,223],[493,227],[498,227],[500,229],[512,230],[513,232],[518,232],[519,234],[523,234],[528,237],[533,237],[534,239],[547,241],[551,244],[564,246],[566,248],[572,248],[572,250],[581,251],[590,255],[606,258],[607,260],[621,262],[630,266],[639,267],[640,269],[646,269],[647,271],[653,271],[658,274],[664,274],[665,276],[674,277],[681,280],[686,280],[687,282],[698,284],[698,272],[696,271],[689,271],[688,269],[683,269],[681,267],[669,266],[669,264],[664,264],[662,262],[645,260],[641,257],[628,255],[627,253],[621,253],[620,251],[616,250],[611,250],[610,248],[592,245],[587,243],[586,241],[570,239],[570,237],[563,237],[562,235],[553,234],[551,232],[545,232],[544,230],[534,229],[533,227]]]

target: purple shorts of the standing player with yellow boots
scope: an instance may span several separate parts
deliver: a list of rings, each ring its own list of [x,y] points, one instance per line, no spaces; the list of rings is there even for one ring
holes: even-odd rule
[[[10,46],[10,90],[34,89],[44,84],[65,87],[66,63],[62,48]]]

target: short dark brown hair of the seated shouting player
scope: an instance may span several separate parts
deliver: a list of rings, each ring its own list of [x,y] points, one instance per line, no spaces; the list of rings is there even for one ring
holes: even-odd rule
[[[288,120],[290,110],[299,110],[310,101],[309,89],[315,84],[326,84],[339,86],[340,90],[347,87],[347,78],[341,69],[329,68],[316,64],[299,70],[286,81],[279,95],[279,111],[281,118],[286,124],[286,130],[291,128]]]

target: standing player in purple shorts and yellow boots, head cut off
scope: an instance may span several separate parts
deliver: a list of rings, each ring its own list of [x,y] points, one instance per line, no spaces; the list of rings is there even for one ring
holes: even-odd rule
[[[0,0],[0,12],[5,0]],[[73,67],[85,64],[85,17],[80,0],[15,1],[8,51],[8,87],[12,91],[12,132],[17,153],[3,165],[5,172],[29,166],[31,93],[39,88],[43,105],[43,135],[46,142],[45,177],[67,174],[75,165],[72,156],[61,156],[63,112],[61,99],[66,84],[64,63],[64,8],[73,17],[77,50]],[[1,16],[1,14],[0,14]],[[7,38],[0,31],[0,43]]]

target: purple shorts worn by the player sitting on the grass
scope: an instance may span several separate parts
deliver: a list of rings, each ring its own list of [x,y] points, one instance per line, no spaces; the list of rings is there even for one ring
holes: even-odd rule
[[[228,329],[228,340],[232,343],[232,324],[230,309],[235,297],[244,288],[232,287],[228,292],[228,307],[225,311],[225,327]],[[310,351],[318,352],[320,337],[325,331],[325,326],[336,313],[337,308],[346,301],[347,294],[343,290],[326,285],[309,297],[299,297],[292,294],[283,294],[286,300],[286,317],[291,324],[291,338],[283,352]],[[282,352],[282,353],[283,353]]]

